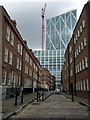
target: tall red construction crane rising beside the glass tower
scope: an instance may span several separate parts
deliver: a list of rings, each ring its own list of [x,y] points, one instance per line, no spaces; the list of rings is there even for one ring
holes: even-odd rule
[[[44,17],[45,17],[45,10],[46,10],[46,5],[47,3],[45,3],[44,8],[42,8],[42,50],[44,50],[44,30],[45,30],[45,26],[44,26]]]

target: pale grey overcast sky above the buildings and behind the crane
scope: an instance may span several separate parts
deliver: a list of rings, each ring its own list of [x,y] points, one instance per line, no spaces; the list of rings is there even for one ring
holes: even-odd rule
[[[57,1],[57,2],[56,2]],[[31,49],[41,48],[41,9],[47,2],[45,19],[77,9],[79,17],[88,0],[0,0],[10,15],[17,21],[17,28]]]

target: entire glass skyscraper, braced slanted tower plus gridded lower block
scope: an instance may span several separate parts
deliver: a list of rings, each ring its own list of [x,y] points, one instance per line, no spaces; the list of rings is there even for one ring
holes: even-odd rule
[[[72,10],[47,19],[45,50],[34,50],[41,66],[56,77],[56,88],[60,88],[64,52],[76,25],[76,16],[77,11]]]

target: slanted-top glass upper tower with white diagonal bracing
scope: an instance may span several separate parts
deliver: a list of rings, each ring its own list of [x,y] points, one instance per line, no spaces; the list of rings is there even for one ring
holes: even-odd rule
[[[46,50],[65,49],[76,25],[76,10],[46,20]]]

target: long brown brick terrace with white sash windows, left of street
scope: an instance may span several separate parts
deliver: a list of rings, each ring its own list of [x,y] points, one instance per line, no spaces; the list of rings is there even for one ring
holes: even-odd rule
[[[15,88],[24,93],[37,88],[41,80],[41,66],[27,42],[23,40],[3,6],[0,6],[0,94],[10,97]]]

